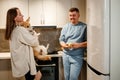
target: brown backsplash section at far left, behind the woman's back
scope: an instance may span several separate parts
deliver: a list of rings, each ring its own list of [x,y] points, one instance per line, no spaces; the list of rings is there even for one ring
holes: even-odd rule
[[[5,29],[0,29],[0,52],[9,52],[9,41],[5,40]]]

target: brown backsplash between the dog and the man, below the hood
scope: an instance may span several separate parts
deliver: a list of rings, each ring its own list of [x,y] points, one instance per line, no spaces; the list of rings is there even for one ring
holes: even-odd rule
[[[40,33],[39,35],[40,45],[47,46],[47,44],[49,44],[49,48],[48,48],[49,53],[61,50],[61,46],[59,44],[59,36],[60,36],[61,28],[34,27],[34,30],[37,33]]]

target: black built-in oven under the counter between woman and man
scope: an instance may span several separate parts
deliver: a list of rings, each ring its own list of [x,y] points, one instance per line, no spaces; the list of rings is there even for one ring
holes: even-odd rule
[[[53,57],[50,61],[36,61],[37,70],[42,73],[41,80],[59,80],[58,57]]]

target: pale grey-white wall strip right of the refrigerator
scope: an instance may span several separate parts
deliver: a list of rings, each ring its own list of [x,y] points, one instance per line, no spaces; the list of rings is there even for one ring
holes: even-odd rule
[[[111,0],[111,78],[120,80],[120,0]]]

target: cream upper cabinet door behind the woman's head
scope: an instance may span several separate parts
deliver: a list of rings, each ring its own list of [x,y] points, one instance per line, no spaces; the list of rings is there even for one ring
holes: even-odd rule
[[[24,18],[28,17],[28,0],[0,0],[0,28],[5,28],[7,10],[18,7]]]

